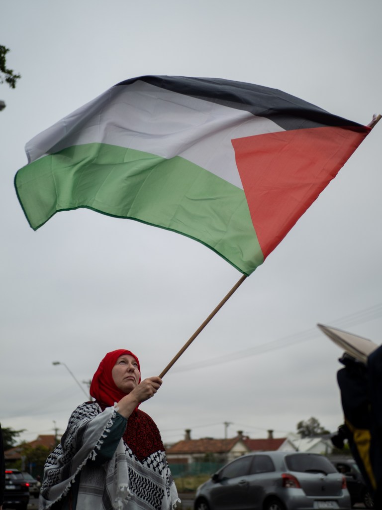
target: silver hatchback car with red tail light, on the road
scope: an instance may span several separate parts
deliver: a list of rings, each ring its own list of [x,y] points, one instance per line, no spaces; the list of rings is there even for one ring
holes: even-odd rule
[[[198,487],[195,510],[345,510],[346,480],[323,455],[243,455]]]

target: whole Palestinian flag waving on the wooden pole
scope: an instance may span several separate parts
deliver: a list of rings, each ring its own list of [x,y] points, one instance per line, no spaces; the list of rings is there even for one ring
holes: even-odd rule
[[[33,138],[15,187],[35,230],[84,207],[196,239],[249,275],[369,131],[276,89],[145,76]]]

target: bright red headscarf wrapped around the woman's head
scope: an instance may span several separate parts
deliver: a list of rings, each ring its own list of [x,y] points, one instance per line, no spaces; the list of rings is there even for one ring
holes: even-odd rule
[[[126,393],[123,393],[123,391],[117,388],[112,376],[113,367],[119,356],[123,354],[129,354],[135,358],[138,363],[138,370],[141,374],[141,367],[137,356],[130,351],[117,349],[106,354],[99,364],[96,373],[93,375],[90,394],[93,398],[108,406],[114,405],[114,402],[119,402],[119,400],[126,395]],[[141,375],[139,377],[139,382],[141,382]]]

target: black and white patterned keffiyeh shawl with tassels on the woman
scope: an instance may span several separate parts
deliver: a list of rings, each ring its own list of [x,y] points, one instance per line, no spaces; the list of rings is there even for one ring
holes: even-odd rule
[[[180,502],[162,450],[138,459],[121,439],[112,459],[91,462],[116,418],[116,404],[102,411],[97,402],[77,407],[61,444],[45,463],[39,510],[54,509],[78,483],[78,510],[171,510]],[[54,504],[56,503],[56,504]]]

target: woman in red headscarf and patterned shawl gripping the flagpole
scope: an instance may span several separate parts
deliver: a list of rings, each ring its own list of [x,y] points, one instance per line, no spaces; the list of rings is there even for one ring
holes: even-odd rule
[[[124,349],[106,354],[90,394],[72,413],[45,463],[40,510],[168,510],[179,502],[159,430],[138,410],[162,384],[141,381],[140,363]]]

